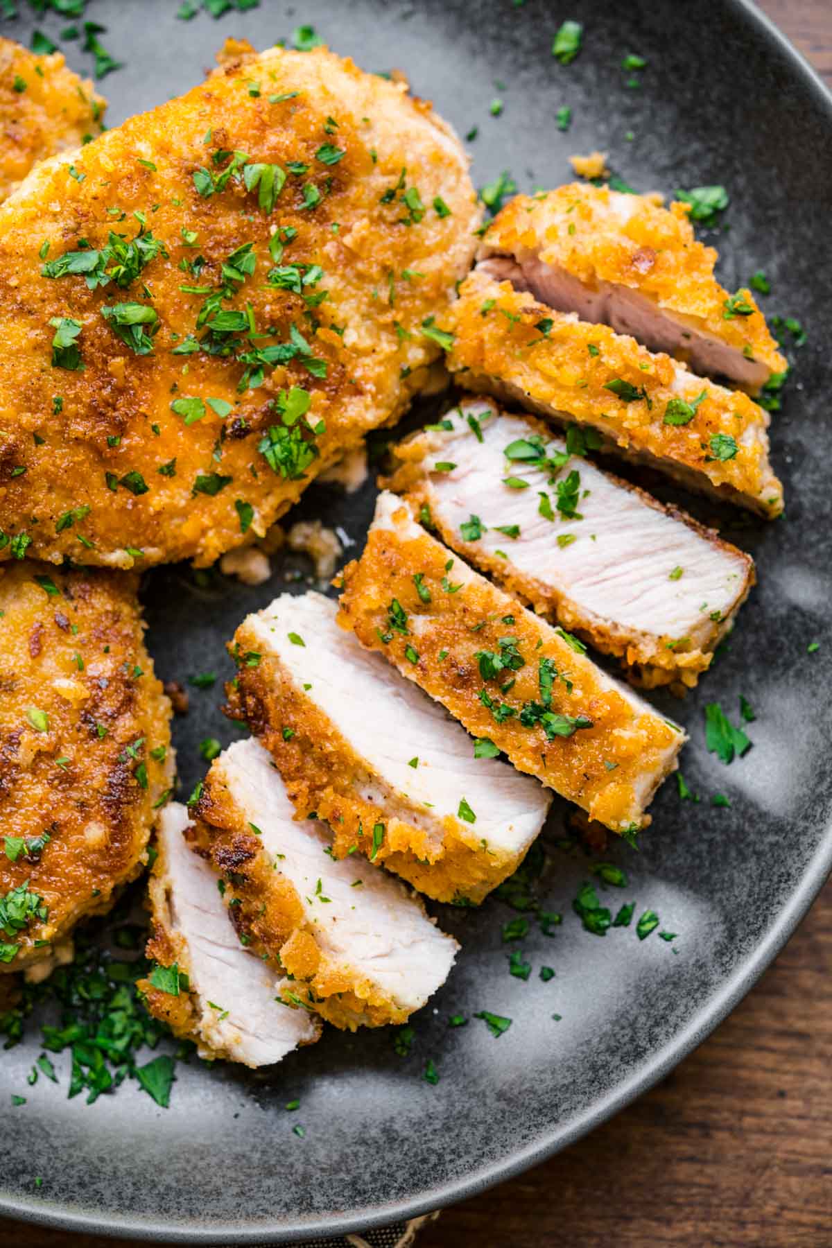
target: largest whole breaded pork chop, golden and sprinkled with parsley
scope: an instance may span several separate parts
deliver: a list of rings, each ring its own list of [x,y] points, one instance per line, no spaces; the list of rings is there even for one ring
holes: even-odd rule
[[[322,49],[39,166],[0,208],[0,529],[115,567],[263,534],[419,388],[478,220],[430,106]]]

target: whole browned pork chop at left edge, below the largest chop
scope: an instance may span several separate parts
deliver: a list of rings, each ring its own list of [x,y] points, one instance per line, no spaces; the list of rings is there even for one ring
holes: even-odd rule
[[[146,861],[171,706],[135,588],[27,559],[0,569],[0,971],[60,960],[72,925]]]

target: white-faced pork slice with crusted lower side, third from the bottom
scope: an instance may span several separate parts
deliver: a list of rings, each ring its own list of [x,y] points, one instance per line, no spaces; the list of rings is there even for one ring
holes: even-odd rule
[[[455,720],[338,628],[328,598],[283,594],[243,622],[232,653],[232,714],[271,751],[298,814],[329,824],[337,857],[358,850],[457,902],[481,901],[519,866],[550,794],[478,756]]]

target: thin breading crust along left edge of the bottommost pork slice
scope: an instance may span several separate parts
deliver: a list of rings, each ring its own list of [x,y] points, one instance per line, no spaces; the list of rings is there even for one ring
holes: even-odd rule
[[[192,830],[186,829],[185,836],[186,840],[192,840]],[[180,972],[190,977],[188,943],[175,930],[171,917],[170,871],[162,840],[156,842],[156,861],[147,881],[152,926],[145,953],[152,961],[158,962],[160,966],[167,967],[176,962]],[[136,987],[142,993],[145,1005],[150,1012],[161,1022],[167,1023],[175,1036],[178,1036],[181,1040],[192,1040],[200,1048],[200,1056],[222,1057],[232,1062],[241,1061],[238,1051],[222,1042],[222,1030],[217,1027],[213,1015],[202,1015],[197,993],[191,987],[186,991],[181,978],[178,996],[155,987],[150,982],[150,978],[138,980]],[[317,1038],[316,1035],[313,1040],[299,1041],[299,1043],[311,1045]]]

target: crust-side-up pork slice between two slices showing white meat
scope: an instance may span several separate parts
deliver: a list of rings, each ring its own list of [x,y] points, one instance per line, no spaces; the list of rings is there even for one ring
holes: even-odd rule
[[[631,836],[685,734],[584,655],[585,646],[449,555],[382,493],[344,569],[339,623],[520,770]],[[469,807],[478,826],[486,811]]]

